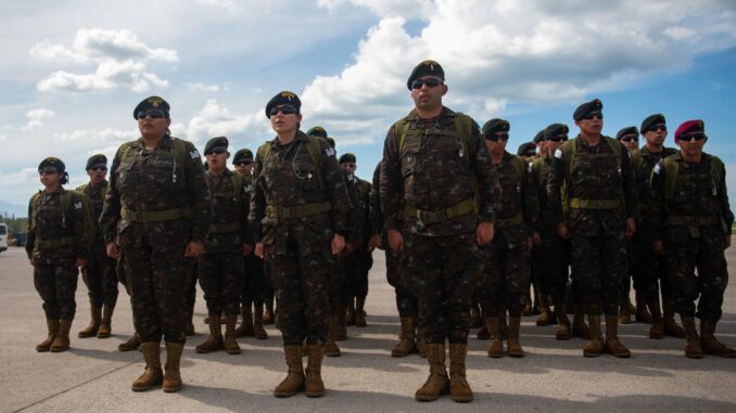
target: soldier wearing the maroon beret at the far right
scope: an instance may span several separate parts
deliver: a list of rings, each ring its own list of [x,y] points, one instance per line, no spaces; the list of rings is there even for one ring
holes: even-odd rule
[[[674,138],[680,152],[660,160],[651,173],[653,248],[667,256],[675,311],[685,327],[685,356],[736,358],[736,350],[714,336],[728,284],[723,251],[731,246],[734,223],[726,170],[721,159],[702,151],[708,140],[702,120],[685,121]]]

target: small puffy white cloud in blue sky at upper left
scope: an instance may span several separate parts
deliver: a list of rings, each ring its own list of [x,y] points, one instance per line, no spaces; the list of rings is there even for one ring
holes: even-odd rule
[[[147,68],[148,62],[176,63],[175,50],[151,48],[130,30],[83,28],[71,48],[43,40],[30,49],[34,57],[59,64],[97,65],[92,73],[58,70],[36,85],[41,92],[129,88],[144,92],[166,88],[168,81]]]

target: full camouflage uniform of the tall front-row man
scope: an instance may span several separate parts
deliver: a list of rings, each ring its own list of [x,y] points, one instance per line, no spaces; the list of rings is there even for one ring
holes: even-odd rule
[[[402,120],[408,122],[403,145],[396,124],[389,129],[381,164],[385,228],[404,237],[402,279],[417,297],[422,336],[442,345],[446,339],[451,345],[468,343],[470,294],[479,278],[475,229],[479,218],[493,222],[499,195],[478,125],[468,119],[472,135],[466,147],[456,116],[466,115],[443,107],[440,116],[421,119],[413,109]],[[478,214],[471,175],[480,189]]]

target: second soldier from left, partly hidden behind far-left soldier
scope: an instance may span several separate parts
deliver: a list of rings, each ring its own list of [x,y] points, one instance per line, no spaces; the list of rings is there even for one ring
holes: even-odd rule
[[[102,154],[92,155],[87,159],[85,169],[90,178],[89,183],[76,190],[89,197],[97,224],[102,215],[102,204],[107,192],[105,180],[107,158]],[[78,336],[87,338],[97,335],[98,338],[107,338],[111,336],[113,310],[117,302],[117,274],[115,272],[117,262],[107,257],[101,231],[98,230],[90,236],[94,236],[90,245],[93,249],[89,251],[89,259],[81,270],[81,275],[88,289],[91,321],[85,330],[79,332]]]

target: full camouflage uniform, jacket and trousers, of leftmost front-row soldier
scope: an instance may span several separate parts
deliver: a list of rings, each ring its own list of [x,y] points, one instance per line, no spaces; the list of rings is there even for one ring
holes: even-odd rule
[[[186,341],[189,242],[203,243],[210,193],[202,159],[190,142],[166,134],[155,150],[143,139],[125,143],[113,160],[100,223],[120,248],[134,324],[141,341]],[[177,159],[176,145],[185,146]],[[181,165],[183,164],[183,165]],[[191,217],[191,218],[190,218]]]

